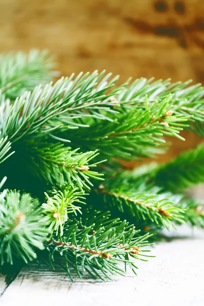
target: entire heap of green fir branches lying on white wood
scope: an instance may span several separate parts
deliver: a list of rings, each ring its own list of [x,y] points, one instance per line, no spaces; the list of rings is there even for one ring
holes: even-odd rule
[[[105,71],[45,85],[51,70],[36,51],[0,60],[0,264],[49,258],[71,279],[110,279],[124,274],[120,262],[135,272],[149,230],[160,239],[163,227],[203,228],[202,205],[183,194],[203,182],[202,145],[162,166],[130,171],[118,161],[156,157],[182,130],[203,136],[203,87],[116,86]]]

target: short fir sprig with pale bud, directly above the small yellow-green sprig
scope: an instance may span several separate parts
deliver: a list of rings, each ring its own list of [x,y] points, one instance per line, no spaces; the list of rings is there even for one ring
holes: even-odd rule
[[[90,179],[103,180],[102,173],[91,170],[98,164],[91,162],[99,154],[97,151],[80,153],[78,149],[71,150],[60,142],[29,141],[25,143],[24,148],[24,156],[27,158],[23,162],[26,168],[47,183],[52,185],[69,183],[72,188],[78,187],[82,191],[93,186]],[[18,147],[18,152],[22,152],[22,146]]]

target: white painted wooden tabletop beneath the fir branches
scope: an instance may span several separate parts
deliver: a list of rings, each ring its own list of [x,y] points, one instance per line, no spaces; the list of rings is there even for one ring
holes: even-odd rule
[[[138,276],[115,277],[103,283],[90,279],[70,282],[66,273],[22,269],[0,299],[1,306],[89,305],[89,306],[203,306],[204,236],[186,227],[174,239],[158,243],[148,263],[138,262]],[[175,235],[175,233],[173,233]],[[178,235],[178,233],[177,233]]]

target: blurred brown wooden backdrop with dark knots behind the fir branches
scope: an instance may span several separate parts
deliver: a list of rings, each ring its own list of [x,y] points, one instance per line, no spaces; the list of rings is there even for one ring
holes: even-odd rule
[[[0,50],[48,48],[62,74],[107,69],[204,84],[203,0],[1,0]],[[201,138],[173,140],[168,155]]]

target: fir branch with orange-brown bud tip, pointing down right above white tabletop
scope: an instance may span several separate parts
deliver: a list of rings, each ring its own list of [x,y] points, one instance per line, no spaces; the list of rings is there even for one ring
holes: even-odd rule
[[[142,192],[132,191],[125,185],[120,189],[114,189],[110,185],[105,188],[102,186],[101,189],[106,206],[114,211],[119,210],[131,221],[134,220],[135,224],[139,220],[150,220],[157,226],[169,228],[170,225],[174,226],[173,222],[183,223],[183,210],[174,206],[173,201],[165,194],[156,194],[153,191],[148,188]]]

